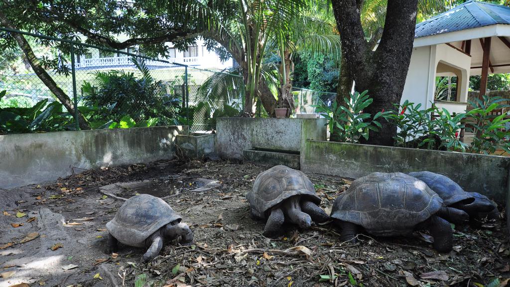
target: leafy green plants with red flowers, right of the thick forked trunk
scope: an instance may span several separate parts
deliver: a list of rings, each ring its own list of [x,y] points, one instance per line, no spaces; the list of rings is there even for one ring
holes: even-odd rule
[[[395,146],[465,150],[465,143],[458,138],[458,131],[464,127],[461,123],[465,117],[464,113],[452,117],[446,109],[439,109],[433,105],[423,110],[420,109],[421,104],[415,106],[409,101],[405,101],[402,105],[395,105],[395,108],[397,111],[390,111],[385,115],[388,121],[398,127]],[[434,115],[433,118],[432,115]],[[439,145],[436,138],[440,139]]]

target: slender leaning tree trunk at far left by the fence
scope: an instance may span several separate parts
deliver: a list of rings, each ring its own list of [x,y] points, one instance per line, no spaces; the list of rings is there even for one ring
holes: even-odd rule
[[[0,23],[10,29],[16,29],[16,27],[12,25],[12,23],[2,12],[0,12]],[[11,33],[11,35],[14,37],[14,39],[16,39],[16,42],[18,42],[19,47],[25,54],[25,57],[32,66],[32,69],[34,70],[37,77],[39,77],[41,82],[43,82],[44,85],[46,85],[46,87],[48,87],[48,89],[55,94],[62,105],[64,105],[64,107],[69,111],[69,113],[74,114],[74,104],[71,102],[71,99],[69,99],[68,95],[59,86],[57,86],[57,83],[55,83],[52,77],[46,73],[46,70],[40,64],[39,59],[35,56],[34,51],[32,51],[32,47],[30,46],[27,39],[25,39],[25,37],[21,34]],[[80,129],[90,130],[90,126],[87,123],[87,120],[80,111],[78,111],[78,118]]]

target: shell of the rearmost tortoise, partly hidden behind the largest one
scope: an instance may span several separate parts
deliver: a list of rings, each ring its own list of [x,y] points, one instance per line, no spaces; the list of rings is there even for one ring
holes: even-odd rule
[[[468,204],[475,200],[460,185],[444,175],[427,171],[409,173],[409,175],[425,182],[430,189],[443,199],[445,206],[450,206],[457,202]]]

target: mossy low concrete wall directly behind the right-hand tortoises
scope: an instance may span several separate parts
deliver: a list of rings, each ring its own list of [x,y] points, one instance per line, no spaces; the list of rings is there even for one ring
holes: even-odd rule
[[[301,170],[349,178],[372,172],[431,171],[503,202],[509,190],[510,158],[308,140],[301,152]]]

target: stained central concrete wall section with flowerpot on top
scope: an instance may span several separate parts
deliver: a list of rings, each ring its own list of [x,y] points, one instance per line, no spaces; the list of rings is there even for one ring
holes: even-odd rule
[[[300,151],[301,138],[326,139],[325,118],[222,117],[216,122],[216,152],[242,160],[243,150],[263,148]]]

